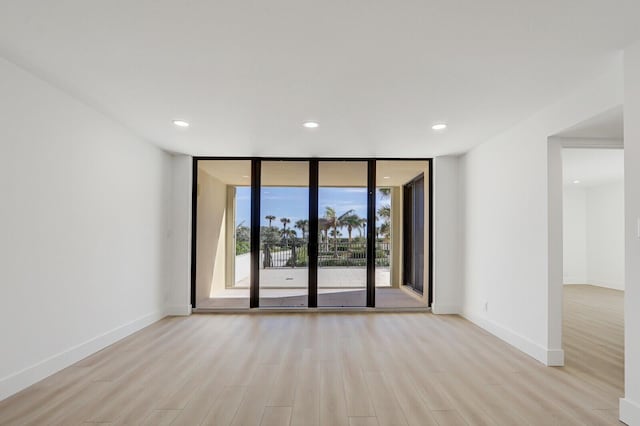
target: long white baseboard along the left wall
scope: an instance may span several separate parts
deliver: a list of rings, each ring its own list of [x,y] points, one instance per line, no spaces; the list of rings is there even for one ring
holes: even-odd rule
[[[0,379],[0,401],[104,349],[118,340],[153,324],[164,316],[164,312],[154,312],[145,315],[125,325],[100,334],[84,343],[73,346],[64,352],[46,358],[24,370],[3,377]]]

